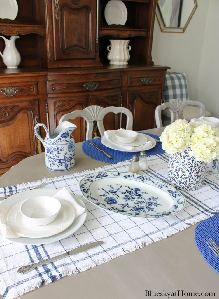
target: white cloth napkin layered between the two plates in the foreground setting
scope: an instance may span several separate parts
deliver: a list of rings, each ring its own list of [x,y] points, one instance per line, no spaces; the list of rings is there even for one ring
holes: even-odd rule
[[[84,213],[85,208],[83,208],[81,205],[79,205],[76,200],[73,198],[70,192],[68,192],[67,188],[64,187],[61,190],[59,190],[54,197],[59,197],[62,199],[67,200],[68,202],[71,202],[73,207],[76,211],[76,216],[80,216]],[[0,236],[4,238],[20,238],[18,234],[15,234],[8,226],[6,222],[7,213],[9,212],[10,208],[5,207],[4,205],[0,205]]]

